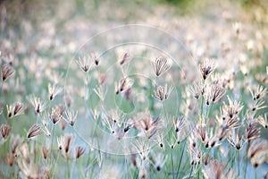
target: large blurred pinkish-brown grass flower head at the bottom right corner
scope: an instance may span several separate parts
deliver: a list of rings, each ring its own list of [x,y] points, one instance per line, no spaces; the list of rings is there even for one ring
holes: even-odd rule
[[[253,141],[247,152],[247,158],[250,159],[251,164],[255,167],[262,165],[267,155],[267,141],[260,139]]]

